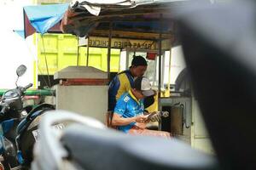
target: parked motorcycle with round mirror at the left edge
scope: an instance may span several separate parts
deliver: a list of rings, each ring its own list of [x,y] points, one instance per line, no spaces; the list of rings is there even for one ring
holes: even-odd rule
[[[0,154],[3,156],[4,169],[23,169],[30,166],[40,116],[44,111],[55,109],[49,104],[35,108],[23,107],[26,89],[32,87],[32,83],[25,87],[17,85],[19,77],[25,72],[25,65],[17,68],[16,88],[6,91],[0,101]]]

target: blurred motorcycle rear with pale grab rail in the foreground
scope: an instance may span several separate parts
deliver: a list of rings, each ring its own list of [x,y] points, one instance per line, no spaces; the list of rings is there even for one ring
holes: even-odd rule
[[[51,127],[60,122],[72,123]],[[48,111],[39,130],[32,170],[218,169],[214,156],[176,139],[127,135],[68,111]]]

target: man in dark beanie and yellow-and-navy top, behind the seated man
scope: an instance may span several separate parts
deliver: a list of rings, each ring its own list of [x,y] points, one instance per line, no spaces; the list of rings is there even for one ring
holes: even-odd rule
[[[142,56],[134,56],[129,70],[120,72],[109,84],[107,125],[110,125],[117,99],[131,89],[135,77],[142,77],[148,63]]]

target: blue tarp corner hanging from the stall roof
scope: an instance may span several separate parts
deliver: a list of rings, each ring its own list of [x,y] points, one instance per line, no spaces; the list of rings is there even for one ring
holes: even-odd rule
[[[44,34],[55,26],[67,11],[68,3],[54,5],[26,6],[24,11],[37,32]]]

